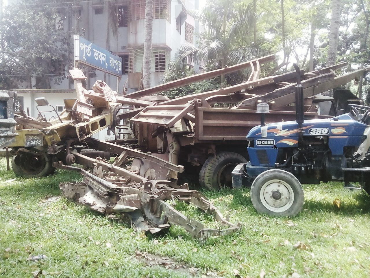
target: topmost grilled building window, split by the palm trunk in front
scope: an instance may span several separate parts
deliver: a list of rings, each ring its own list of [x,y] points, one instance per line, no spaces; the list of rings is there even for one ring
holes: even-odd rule
[[[131,0],[128,6],[128,21],[145,18],[145,0]],[[171,22],[171,0],[153,0],[153,18]]]

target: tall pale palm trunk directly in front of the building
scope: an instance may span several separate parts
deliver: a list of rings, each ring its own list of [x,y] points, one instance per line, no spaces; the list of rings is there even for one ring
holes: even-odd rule
[[[144,54],[143,54],[143,85],[151,87],[152,67],[152,33],[153,33],[153,0],[145,0]]]

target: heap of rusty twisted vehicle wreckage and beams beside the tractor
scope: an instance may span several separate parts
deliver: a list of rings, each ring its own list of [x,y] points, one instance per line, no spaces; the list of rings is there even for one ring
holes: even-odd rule
[[[295,117],[295,112],[289,110],[292,106],[286,105],[294,102],[296,73],[259,78],[260,64],[273,59],[273,55],[265,56],[125,96],[118,96],[102,81],[95,82],[92,90],[85,89],[83,81],[86,77],[81,70],[73,69],[70,75],[77,100],[64,100],[65,110],[60,115],[54,110],[57,113],[55,119],[47,121],[42,113],[41,118],[33,119],[23,111],[22,115],[15,115],[16,136],[7,142],[13,154],[13,170],[23,176],[44,176],[55,168],[79,171],[83,175],[82,182],[60,184],[68,199],[107,215],[124,215],[136,228],[152,233],[166,229],[170,224],[184,227],[196,238],[235,232],[240,225],[226,220],[202,193],[189,190],[187,184],[175,183],[178,173],[184,172],[184,166],[178,165],[179,159],[202,166],[208,157],[215,156],[216,150],[234,146],[245,148],[246,133],[259,125],[259,116],[251,109],[260,102],[269,103],[275,110],[266,115],[266,122]],[[318,103],[316,95],[346,84],[367,71],[359,69],[336,75],[334,71],[346,65],[341,63],[308,73],[301,71],[307,118],[330,117],[320,116],[314,110],[314,104]],[[151,96],[242,69],[250,70],[249,79],[242,84],[173,100]],[[50,106],[43,98],[36,102],[38,106]],[[220,109],[211,108],[212,103],[239,105]],[[136,108],[119,113],[123,104]],[[119,143],[136,142],[137,149],[144,152],[91,137],[106,128],[115,132],[121,119],[128,118],[137,125],[138,139]],[[111,155],[115,156],[113,163],[108,161]],[[73,163],[84,168],[74,167]],[[220,181],[223,184],[227,184],[228,178],[231,181],[234,164],[223,166],[225,174],[221,170],[215,174],[221,177],[215,179],[216,188]],[[187,218],[171,205],[174,200],[192,203],[212,214],[223,229],[209,229]]]

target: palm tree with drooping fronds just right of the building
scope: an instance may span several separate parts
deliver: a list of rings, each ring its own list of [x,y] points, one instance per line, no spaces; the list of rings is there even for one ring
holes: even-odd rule
[[[186,43],[178,49],[178,63],[220,62],[225,67],[261,56],[265,51],[263,42],[255,41],[253,3],[235,0],[213,2],[202,11],[189,11],[206,31],[199,37],[199,47]],[[224,79],[221,76],[221,82]]]

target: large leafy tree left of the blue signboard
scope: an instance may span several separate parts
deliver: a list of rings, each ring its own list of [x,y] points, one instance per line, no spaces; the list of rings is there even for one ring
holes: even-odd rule
[[[23,5],[4,8],[0,19],[1,89],[13,89],[18,82],[29,83],[31,76],[37,76],[43,88],[50,87],[49,77],[57,73],[57,64],[68,65],[73,60],[72,33],[63,27],[65,15],[71,10],[58,8],[58,1],[55,3],[45,6],[39,0],[26,9]],[[60,83],[63,79],[56,75],[53,80]]]

